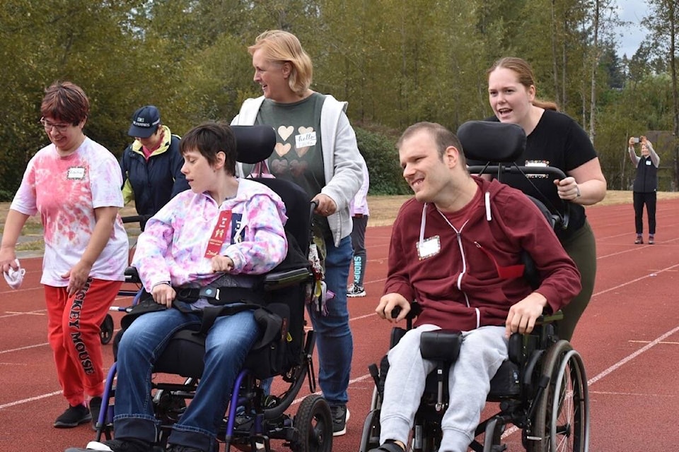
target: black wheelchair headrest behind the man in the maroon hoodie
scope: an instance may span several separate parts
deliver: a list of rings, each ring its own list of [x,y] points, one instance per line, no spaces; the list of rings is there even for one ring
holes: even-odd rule
[[[482,162],[511,163],[526,149],[526,133],[518,124],[467,121],[458,129],[465,157]]]

